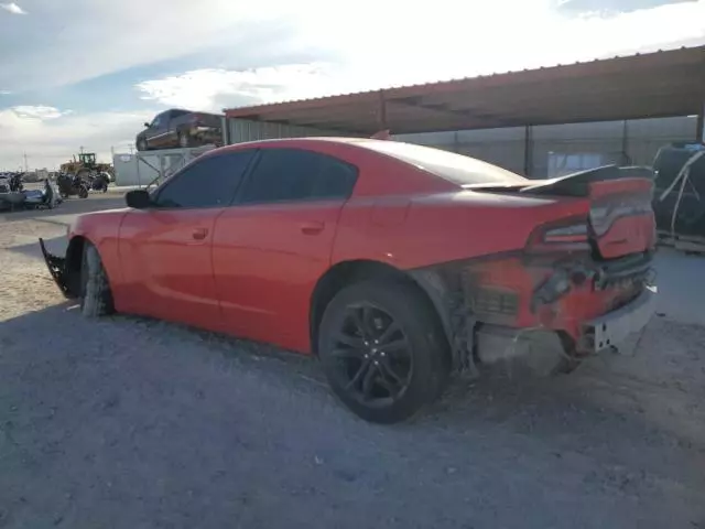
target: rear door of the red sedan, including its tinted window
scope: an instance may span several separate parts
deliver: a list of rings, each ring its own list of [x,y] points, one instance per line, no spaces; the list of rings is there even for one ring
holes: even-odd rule
[[[357,168],[300,149],[260,149],[232,207],[217,219],[214,271],[225,324],[238,335],[307,350],[308,309],[330,266]]]

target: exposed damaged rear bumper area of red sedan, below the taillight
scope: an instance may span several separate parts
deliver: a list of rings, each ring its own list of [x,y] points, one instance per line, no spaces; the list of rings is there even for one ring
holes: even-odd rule
[[[440,314],[453,368],[476,374],[513,357],[531,356],[545,370],[549,357],[589,354],[585,323],[638,298],[653,271],[650,253],[600,261],[518,251],[410,273]]]

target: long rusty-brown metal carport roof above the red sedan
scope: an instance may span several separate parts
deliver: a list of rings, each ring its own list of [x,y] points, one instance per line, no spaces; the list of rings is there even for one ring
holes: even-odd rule
[[[371,134],[703,114],[705,46],[226,109],[228,118]],[[702,118],[701,118],[702,123]]]

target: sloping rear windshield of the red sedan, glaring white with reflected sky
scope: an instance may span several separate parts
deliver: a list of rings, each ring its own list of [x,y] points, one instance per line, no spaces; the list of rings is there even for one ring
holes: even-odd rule
[[[400,141],[367,141],[365,145],[424,169],[457,185],[525,184],[527,179],[491,163],[455,152]]]

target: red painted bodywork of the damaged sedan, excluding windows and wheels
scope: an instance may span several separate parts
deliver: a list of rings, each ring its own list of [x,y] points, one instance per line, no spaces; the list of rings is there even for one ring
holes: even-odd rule
[[[350,198],[82,216],[69,236],[98,247],[116,309],[310,353],[316,284],[348,261],[381,262],[408,272],[456,267],[470,278],[470,298],[507,291],[520,300],[510,314],[482,315],[478,309],[482,322],[542,326],[575,339],[586,320],[634,295],[633,289],[596,291],[589,281],[576,282],[560,300],[532,307],[536,285],[556,270],[555,258],[532,241],[551,223],[587,219],[595,212],[615,210],[619,201],[642,199],[649,182],[598,182],[579,197],[480,192],[355,140],[335,139],[251,142],[200,158],[282,147],[356,165]],[[653,249],[652,212],[605,223],[608,228],[597,235],[603,259]],[[588,252],[561,256],[594,264]]]

